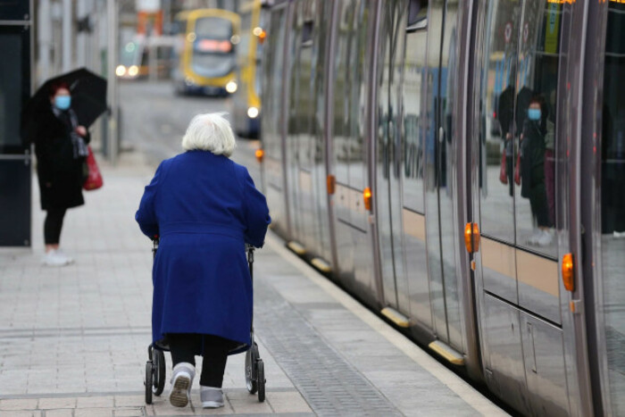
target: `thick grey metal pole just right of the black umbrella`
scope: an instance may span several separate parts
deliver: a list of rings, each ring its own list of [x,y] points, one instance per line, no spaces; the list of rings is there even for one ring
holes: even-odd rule
[[[108,79],[108,102],[111,107],[111,113],[109,115],[109,129],[108,129],[108,157],[109,161],[114,165],[117,163],[117,156],[119,154],[119,136],[117,133],[117,123],[119,119],[118,109],[118,91],[117,91],[117,76],[115,75],[115,66],[117,65],[117,2],[115,0],[106,1],[106,26],[107,26],[107,38],[108,38],[108,50],[106,53],[106,67],[107,67],[107,79]]]

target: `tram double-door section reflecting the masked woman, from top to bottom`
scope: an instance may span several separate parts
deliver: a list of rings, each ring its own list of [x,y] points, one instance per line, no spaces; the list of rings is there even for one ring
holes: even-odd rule
[[[522,413],[565,415],[569,397],[579,397],[567,384],[558,266],[568,247],[558,236],[568,232],[571,192],[563,180],[566,123],[558,119],[566,104],[560,49],[568,15],[548,0],[482,6],[476,44],[483,50],[474,69],[479,129],[471,138],[480,162],[471,165],[486,382]]]

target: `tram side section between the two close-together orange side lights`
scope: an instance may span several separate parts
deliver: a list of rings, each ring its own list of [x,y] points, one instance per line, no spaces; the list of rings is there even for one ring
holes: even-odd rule
[[[329,120],[329,172],[336,178],[331,196],[335,213],[337,276],[354,294],[371,306],[379,306],[378,284],[372,260],[370,212],[363,191],[369,184],[371,88],[376,7],[372,2],[337,2],[332,57],[334,85],[329,88],[334,114]]]

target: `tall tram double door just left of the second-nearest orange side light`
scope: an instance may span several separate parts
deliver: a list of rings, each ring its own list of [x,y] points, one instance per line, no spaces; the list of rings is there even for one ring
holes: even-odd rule
[[[457,3],[430,1],[424,125],[425,229],[429,296],[437,338],[464,351],[456,280],[458,230],[452,131]]]

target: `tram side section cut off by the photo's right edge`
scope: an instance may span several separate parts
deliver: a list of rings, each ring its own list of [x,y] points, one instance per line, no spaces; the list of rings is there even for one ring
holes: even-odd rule
[[[625,4],[610,3],[601,127],[601,261],[612,415],[625,415]]]

